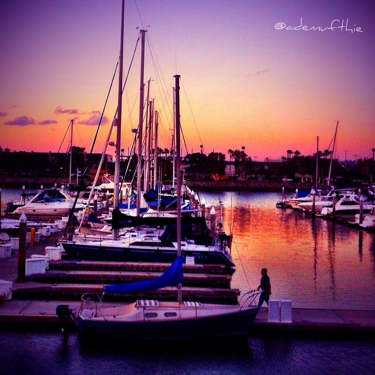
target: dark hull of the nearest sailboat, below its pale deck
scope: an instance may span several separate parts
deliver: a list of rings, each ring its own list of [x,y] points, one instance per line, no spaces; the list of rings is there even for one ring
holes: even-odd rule
[[[170,321],[120,322],[86,320],[78,317],[80,338],[111,338],[121,340],[186,340],[241,336],[249,332],[258,307],[230,314]]]

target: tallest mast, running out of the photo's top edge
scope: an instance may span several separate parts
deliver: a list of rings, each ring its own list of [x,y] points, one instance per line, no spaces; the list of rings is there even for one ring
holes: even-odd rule
[[[116,128],[116,157],[115,157],[115,178],[114,178],[114,196],[113,208],[118,207],[118,190],[120,188],[120,152],[121,152],[121,110],[122,110],[122,70],[124,54],[124,0],[121,6],[121,36],[120,36],[120,54],[118,56],[118,99],[117,99],[117,128]],[[112,231],[114,240],[117,239],[117,229]]]

